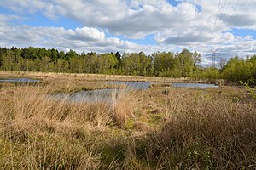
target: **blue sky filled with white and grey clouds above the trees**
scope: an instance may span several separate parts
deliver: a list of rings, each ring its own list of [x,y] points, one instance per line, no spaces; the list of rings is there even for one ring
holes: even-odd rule
[[[256,54],[253,0],[2,0],[0,46],[78,53]]]

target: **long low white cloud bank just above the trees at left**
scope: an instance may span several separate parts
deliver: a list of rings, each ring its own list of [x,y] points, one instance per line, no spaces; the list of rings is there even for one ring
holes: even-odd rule
[[[78,52],[137,51],[140,47],[91,27],[67,30],[62,27],[0,26],[0,46],[72,48]]]

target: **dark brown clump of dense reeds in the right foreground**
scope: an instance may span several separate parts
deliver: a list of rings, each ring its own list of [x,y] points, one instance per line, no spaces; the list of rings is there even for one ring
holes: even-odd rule
[[[248,169],[256,161],[256,105],[205,91],[170,89],[166,122],[138,147],[167,169]],[[145,142],[148,141],[148,142]],[[143,150],[143,151],[142,151]]]

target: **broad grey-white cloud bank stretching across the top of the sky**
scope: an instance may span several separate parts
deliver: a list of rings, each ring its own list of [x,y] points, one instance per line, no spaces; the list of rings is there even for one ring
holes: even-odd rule
[[[189,32],[191,37],[195,36],[193,31],[197,30],[212,32],[215,37],[215,34],[228,31],[232,26],[247,28],[256,18],[253,11],[256,2],[250,0],[177,2],[177,6],[172,6],[166,0],[9,0],[0,5],[16,12],[41,12],[51,19],[67,17],[84,26],[101,28],[110,34],[129,38],[165,32],[163,36],[169,39],[182,39],[184,34],[189,36]],[[172,35],[166,34],[166,30],[172,30]],[[204,38],[207,39],[201,37]]]

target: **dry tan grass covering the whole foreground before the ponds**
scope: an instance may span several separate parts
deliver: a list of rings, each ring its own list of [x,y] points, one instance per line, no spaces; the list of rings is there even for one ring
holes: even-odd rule
[[[256,105],[242,88],[155,86],[110,103],[56,100],[55,89],[2,84],[1,169],[254,168]]]

